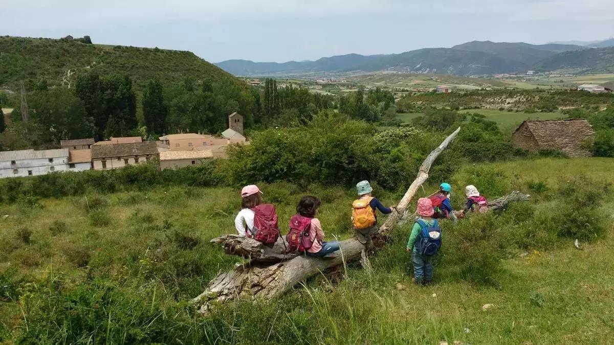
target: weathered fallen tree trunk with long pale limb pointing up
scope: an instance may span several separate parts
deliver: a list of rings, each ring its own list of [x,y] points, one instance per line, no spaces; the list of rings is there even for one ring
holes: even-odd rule
[[[427,156],[418,170],[419,172],[416,180],[414,180],[400,203],[398,203],[398,212],[393,212],[389,215],[383,227],[379,230],[380,234],[386,236],[387,233],[394,228],[395,224],[410,204],[411,198],[413,198],[418,188],[429,177],[430,166],[440,153],[448,147],[450,142],[454,140],[460,130],[461,128],[459,127]],[[236,238],[234,238],[234,235],[225,236],[220,236],[220,240],[216,240],[215,242],[225,243],[230,240],[231,244],[229,248],[231,248],[232,252],[241,252],[242,254],[249,255],[255,254],[255,256],[260,255],[260,257],[271,257],[271,254],[258,254],[262,247],[252,246],[251,241],[235,241]],[[239,248],[236,245],[233,247],[232,243],[246,243],[248,247],[245,249]],[[357,239],[346,239],[345,241],[341,241],[340,246],[340,254],[335,258],[315,258],[301,255],[292,260],[274,263],[273,265],[267,265],[267,263],[258,262],[258,260],[252,261],[249,265],[239,265],[233,271],[221,273],[215,277],[209,283],[208,289],[194,298],[192,302],[197,305],[200,304],[199,311],[203,314],[207,314],[214,304],[223,303],[234,298],[251,297],[261,300],[270,300],[286,290],[291,289],[298,282],[318,272],[338,265],[345,265],[346,262],[358,260],[361,257],[361,253],[365,250],[365,247],[360,244]]]

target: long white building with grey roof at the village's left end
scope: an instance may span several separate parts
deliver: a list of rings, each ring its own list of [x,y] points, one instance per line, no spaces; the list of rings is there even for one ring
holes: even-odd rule
[[[68,149],[0,152],[0,177],[37,176],[68,170]]]

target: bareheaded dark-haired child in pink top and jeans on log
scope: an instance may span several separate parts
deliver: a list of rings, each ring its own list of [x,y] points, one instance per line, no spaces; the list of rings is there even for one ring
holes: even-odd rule
[[[339,250],[339,242],[324,241],[324,230],[320,220],[315,218],[317,209],[320,207],[320,200],[315,196],[305,195],[298,202],[297,213],[303,217],[311,218],[311,227],[309,227],[309,239],[313,241],[311,248],[306,250],[306,254],[310,257],[336,257],[334,252]]]

